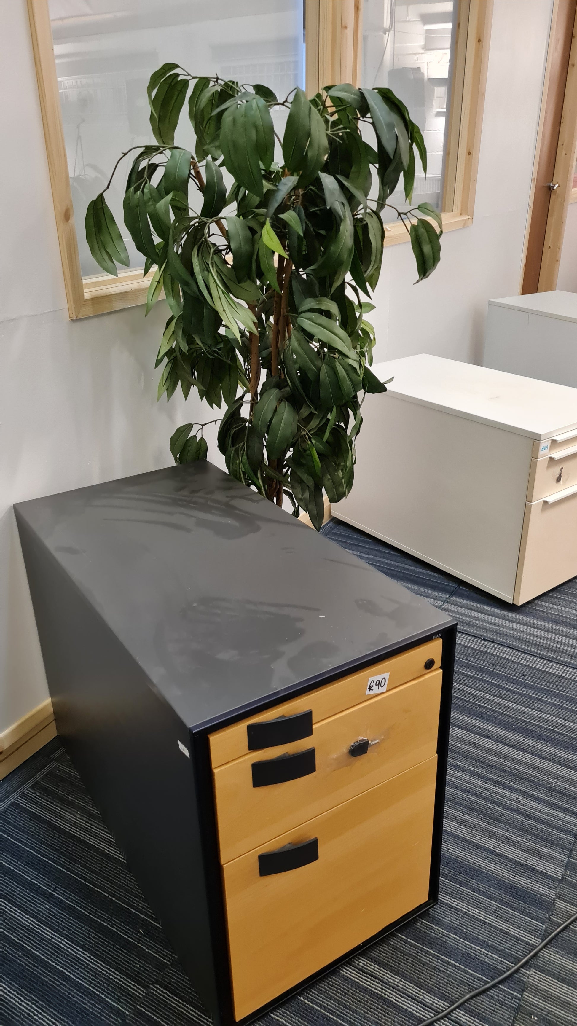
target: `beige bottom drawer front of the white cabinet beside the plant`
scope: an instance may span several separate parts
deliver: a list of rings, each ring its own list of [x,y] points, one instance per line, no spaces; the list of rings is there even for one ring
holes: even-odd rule
[[[549,502],[526,505],[513,598],[517,605],[577,575],[577,490],[568,490]]]

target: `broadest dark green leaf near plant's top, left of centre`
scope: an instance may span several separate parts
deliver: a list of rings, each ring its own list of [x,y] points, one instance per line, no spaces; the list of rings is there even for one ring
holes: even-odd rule
[[[227,171],[259,199],[264,189],[258,150],[260,125],[257,100],[229,107],[221,124],[221,148]]]

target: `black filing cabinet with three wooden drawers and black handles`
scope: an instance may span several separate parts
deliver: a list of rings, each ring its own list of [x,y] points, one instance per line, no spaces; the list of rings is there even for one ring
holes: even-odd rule
[[[209,464],[15,509],[59,734],[215,1023],[434,903],[453,621]]]

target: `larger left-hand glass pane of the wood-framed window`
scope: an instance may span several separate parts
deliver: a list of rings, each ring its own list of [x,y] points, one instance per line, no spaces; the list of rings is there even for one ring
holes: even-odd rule
[[[283,98],[305,85],[303,0],[49,0],[49,11],[80,266],[102,274],[84,238],[86,206],[122,152],[154,143],[152,72],[174,61],[191,75],[261,82]],[[182,119],[176,142],[193,148],[186,108]],[[122,221],[129,160],[107,200],[138,268],[144,259]]]

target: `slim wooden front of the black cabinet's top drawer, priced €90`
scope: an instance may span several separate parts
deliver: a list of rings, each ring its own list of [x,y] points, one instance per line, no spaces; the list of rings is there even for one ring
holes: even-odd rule
[[[427,641],[425,644],[410,648],[392,659],[368,666],[367,669],[351,673],[347,677],[342,677],[332,684],[324,684],[316,690],[308,692],[298,699],[290,699],[282,702],[274,709],[267,709],[266,712],[249,719],[241,720],[239,723],[232,723],[222,731],[217,731],[209,737],[210,741],[210,762],[213,766],[223,765],[231,759],[237,759],[240,755],[248,752],[247,726],[252,723],[260,723],[266,720],[275,719],[278,716],[293,716],[305,710],[312,710],[313,723],[343,709],[349,709],[359,702],[371,701],[372,696],[367,695],[367,686],[371,677],[382,677],[389,674],[387,681],[387,692],[399,684],[405,684],[408,680],[421,676],[426,670],[436,669],[440,666],[440,654],[443,642],[440,638],[434,641]],[[432,664],[429,666],[430,661]],[[282,743],[284,751],[284,743]],[[276,753],[278,754],[278,752]]]

